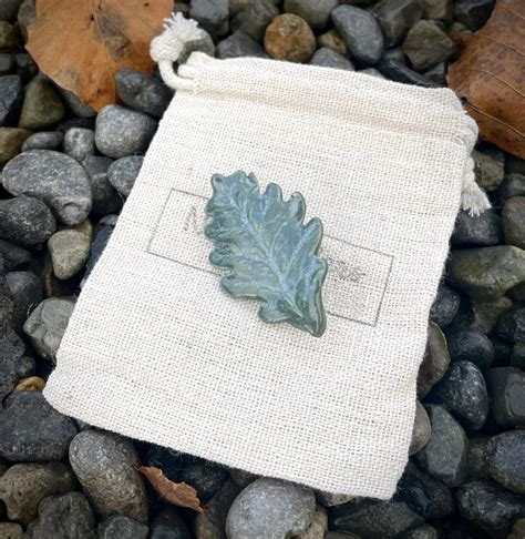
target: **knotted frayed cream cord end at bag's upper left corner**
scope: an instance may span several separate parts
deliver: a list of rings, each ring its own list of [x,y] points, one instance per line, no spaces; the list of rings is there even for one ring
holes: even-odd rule
[[[153,38],[150,44],[150,55],[158,64],[161,75],[173,90],[189,89],[192,81],[182,79],[173,71],[173,62],[176,62],[189,41],[195,41],[203,35],[203,30],[197,21],[185,19],[182,13],[172,13],[169,19],[164,19],[164,31]]]

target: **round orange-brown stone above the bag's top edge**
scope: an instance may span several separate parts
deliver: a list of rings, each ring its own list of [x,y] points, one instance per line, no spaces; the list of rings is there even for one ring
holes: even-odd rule
[[[280,14],[266,28],[265,50],[276,60],[307,62],[316,52],[316,37],[300,17]]]

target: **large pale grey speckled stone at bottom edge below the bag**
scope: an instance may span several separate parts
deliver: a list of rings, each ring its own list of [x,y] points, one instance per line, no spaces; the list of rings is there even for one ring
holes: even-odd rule
[[[236,498],[226,519],[230,538],[285,538],[306,530],[313,519],[316,497],[300,485],[259,478]]]

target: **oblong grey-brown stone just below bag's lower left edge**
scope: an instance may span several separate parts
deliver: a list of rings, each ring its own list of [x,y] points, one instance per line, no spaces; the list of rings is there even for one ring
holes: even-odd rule
[[[70,462],[97,513],[121,513],[147,522],[146,490],[134,468],[138,457],[130,440],[83,430],[71,443]]]

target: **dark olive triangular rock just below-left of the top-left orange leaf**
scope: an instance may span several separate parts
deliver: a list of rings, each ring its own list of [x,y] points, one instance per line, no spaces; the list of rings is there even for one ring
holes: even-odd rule
[[[37,75],[27,87],[19,128],[44,129],[60,122],[65,109],[50,82]]]

